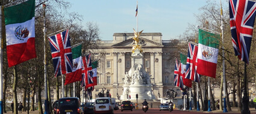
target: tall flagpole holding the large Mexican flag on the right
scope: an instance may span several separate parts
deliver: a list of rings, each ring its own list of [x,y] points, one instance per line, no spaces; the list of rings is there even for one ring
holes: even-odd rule
[[[224,37],[223,37],[223,12],[222,12],[222,4],[220,0],[220,18],[221,18],[221,38],[222,38],[222,76],[223,76],[223,90],[224,90],[224,95],[223,95],[223,100],[224,100],[224,107],[223,107],[223,112],[228,112],[226,110],[226,68],[225,68],[225,52],[224,52]]]

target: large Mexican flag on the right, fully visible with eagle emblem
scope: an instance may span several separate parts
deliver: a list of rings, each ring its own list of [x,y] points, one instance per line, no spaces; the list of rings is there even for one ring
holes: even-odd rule
[[[219,34],[213,34],[199,29],[198,74],[216,77],[219,39]]]

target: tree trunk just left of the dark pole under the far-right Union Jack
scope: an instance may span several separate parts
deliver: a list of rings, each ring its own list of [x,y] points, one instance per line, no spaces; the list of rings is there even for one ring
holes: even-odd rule
[[[241,104],[241,88],[240,88],[240,74],[239,74],[239,59],[237,59],[237,109],[239,112],[242,111]]]

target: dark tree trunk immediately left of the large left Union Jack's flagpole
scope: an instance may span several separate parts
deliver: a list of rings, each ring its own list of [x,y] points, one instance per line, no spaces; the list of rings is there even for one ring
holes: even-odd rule
[[[41,92],[42,92],[42,76],[39,74],[39,68],[37,68],[37,76],[38,76],[38,110],[40,114],[43,114],[43,108],[42,108],[42,98],[41,98]]]

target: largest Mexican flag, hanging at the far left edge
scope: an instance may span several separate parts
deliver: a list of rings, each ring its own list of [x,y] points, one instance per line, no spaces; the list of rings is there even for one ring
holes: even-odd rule
[[[8,67],[36,58],[35,0],[4,8]]]

